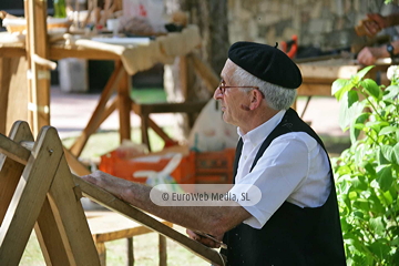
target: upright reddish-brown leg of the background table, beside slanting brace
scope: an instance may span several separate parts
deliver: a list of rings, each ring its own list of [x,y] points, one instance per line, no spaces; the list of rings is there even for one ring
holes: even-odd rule
[[[117,62],[122,63],[122,62]],[[130,90],[132,88],[131,76],[125,70],[123,70],[123,78],[119,84],[117,90],[117,109],[120,120],[120,141],[131,140],[131,121],[130,112],[132,100],[130,98]]]

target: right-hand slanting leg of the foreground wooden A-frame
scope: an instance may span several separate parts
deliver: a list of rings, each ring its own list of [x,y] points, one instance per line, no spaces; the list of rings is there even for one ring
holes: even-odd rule
[[[62,151],[61,141],[58,141],[57,149]],[[63,156],[49,191],[49,202],[55,215],[57,225],[64,245],[71,250],[70,257],[71,260],[74,258],[75,265],[100,265],[98,250],[80,202],[81,195],[75,194],[79,191],[72,181],[72,174]],[[48,238],[51,237],[50,232],[45,228],[41,232],[47,234]],[[47,246],[49,247],[49,245]]]

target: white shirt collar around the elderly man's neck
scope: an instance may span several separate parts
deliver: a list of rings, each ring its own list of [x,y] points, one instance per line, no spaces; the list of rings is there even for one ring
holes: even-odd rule
[[[243,137],[243,141],[250,141],[255,145],[259,142],[263,142],[272,131],[282,122],[286,110],[282,110],[276,113],[272,119],[263,123],[262,125],[255,127],[246,134],[243,134],[239,127],[237,127],[237,134]]]

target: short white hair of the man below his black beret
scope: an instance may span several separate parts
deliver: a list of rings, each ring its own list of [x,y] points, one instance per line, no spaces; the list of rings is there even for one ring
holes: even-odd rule
[[[246,86],[257,86],[259,91],[265,95],[266,103],[269,108],[274,110],[287,110],[293,105],[297,90],[287,89],[269,82],[263,81],[255,75],[248,73],[243,68],[236,65],[237,68],[232,74],[232,80],[237,85]],[[241,89],[245,90],[245,88]]]

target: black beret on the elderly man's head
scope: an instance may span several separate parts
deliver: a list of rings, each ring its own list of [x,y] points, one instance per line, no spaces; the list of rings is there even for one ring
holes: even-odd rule
[[[301,83],[298,66],[278,48],[236,42],[229,48],[228,58],[250,74],[275,85],[297,89]]]

